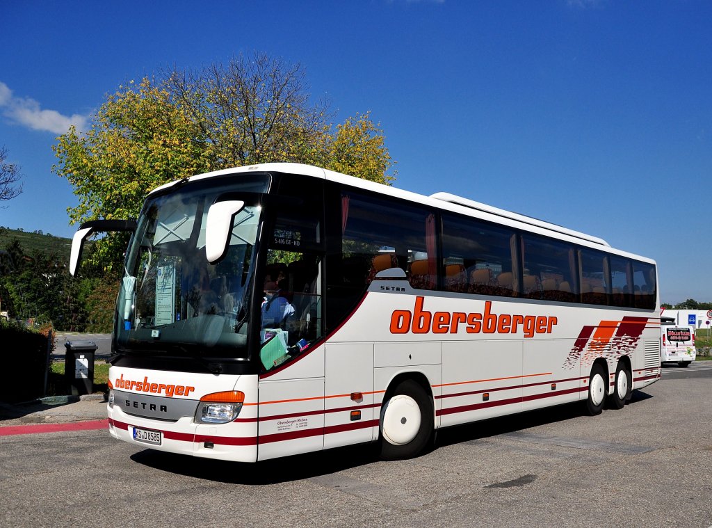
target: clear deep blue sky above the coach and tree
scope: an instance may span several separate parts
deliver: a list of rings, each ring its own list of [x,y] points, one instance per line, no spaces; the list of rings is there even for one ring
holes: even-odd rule
[[[160,68],[263,51],[337,121],[370,110],[395,185],[562,224],[712,301],[712,2],[0,0],[0,146],[24,192],[0,225],[70,236],[51,146]]]

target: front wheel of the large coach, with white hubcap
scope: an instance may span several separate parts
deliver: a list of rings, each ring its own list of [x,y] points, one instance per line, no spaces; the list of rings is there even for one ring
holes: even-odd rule
[[[381,457],[409,458],[422,452],[433,434],[429,395],[413,380],[400,382],[381,408]]]

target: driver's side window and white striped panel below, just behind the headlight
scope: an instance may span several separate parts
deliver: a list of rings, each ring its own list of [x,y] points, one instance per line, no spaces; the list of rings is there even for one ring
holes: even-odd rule
[[[318,208],[280,212],[261,274],[258,460],[324,447],[322,263]]]

